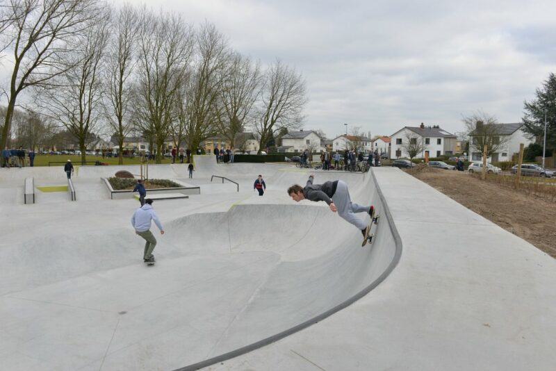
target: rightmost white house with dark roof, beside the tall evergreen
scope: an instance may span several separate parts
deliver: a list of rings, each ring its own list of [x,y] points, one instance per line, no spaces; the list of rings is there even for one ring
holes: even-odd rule
[[[498,161],[511,161],[514,154],[519,153],[519,145],[523,143],[527,147],[533,142],[525,136],[525,133],[521,131],[523,123],[517,122],[514,124],[493,124],[498,126],[500,129],[494,131],[500,134],[500,148],[497,149],[489,158],[486,159],[489,163],[496,163]],[[476,147],[477,138],[473,138],[473,131],[469,133],[469,159],[472,161],[482,160],[482,149]],[[475,145],[474,145],[475,144]]]

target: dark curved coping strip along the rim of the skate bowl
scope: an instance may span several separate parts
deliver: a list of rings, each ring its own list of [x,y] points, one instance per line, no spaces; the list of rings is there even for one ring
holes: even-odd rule
[[[270,345],[272,343],[277,342],[278,340],[286,338],[287,336],[291,336],[291,335],[293,335],[293,333],[296,333],[297,331],[301,331],[303,329],[306,329],[307,327],[311,326],[312,324],[316,324],[316,323],[318,323],[322,320],[325,320],[325,318],[328,318],[330,315],[333,315],[334,313],[336,313],[338,311],[341,311],[344,308],[347,308],[347,306],[350,306],[354,302],[357,302],[357,300],[359,300],[359,299],[361,299],[361,297],[364,297],[365,295],[367,295],[371,290],[373,290],[375,287],[377,287],[379,285],[379,283],[384,281],[384,279],[386,279],[386,277],[389,276],[389,274],[394,270],[395,266],[398,265],[398,262],[400,261],[400,258],[402,256],[402,240],[400,238],[400,234],[398,233],[398,230],[395,228],[395,226],[393,224],[393,218],[392,218],[392,215],[390,213],[390,208],[388,207],[388,204],[386,203],[386,199],[384,199],[384,195],[382,194],[382,191],[380,190],[377,179],[374,176],[374,170],[373,170],[372,167],[371,167],[370,171],[373,172],[373,181],[375,183],[375,189],[377,190],[377,193],[379,195],[379,199],[382,201],[382,205],[384,206],[384,216],[386,216],[386,220],[388,220],[388,222],[389,222],[390,231],[392,233],[392,236],[394,238],[394,243],[395,243],[395,254],[394,254],[394,257],[393,257],[391,263],[389,264],[389,266],[386,267],[386,270],[384,272],[382,272],[382,274],[377,279],[375,279],[375,281],[370,283],[369,286],[367,286],[366,288],[363,288],[363,290],[357,292],[357,294],[355,294],[354,296],[345,300],[341,304],[338,304],[337,306],[334,306],[333,308],[329,309],[328,311],[325,311],[324,313],[321,313],[320,315],[317,315],[316,317],[311,318],[310,320],[306,320],[305,322],[297,324],[296,326],[291,327],[290,329],[287,329],[285,331],[281,331],[281,332],[277,333],[276,335],[269,336],[268,338],[264,338],[262,340],[256,341],[255,343],[252,343],[250,345],[245,345],[245,347],[240,347],[238,349],[232,350],[231,352],[220,354],[220,356],[215,356],[213,358],[208,358],[204,361],[193,363],[192,365],[188,365],[188,366],[183,367],[183,368],[178,368],[174,371],[190,371],[190,370],[199,370],[200,368],[206,368],[210,365],[214,365],[215,363],[227,361],[231,358],[236,358],[237,356],[241,356],[243,354],[252,352],[256,349],[259,349],[261,347],[265,347],[266,345]]]

